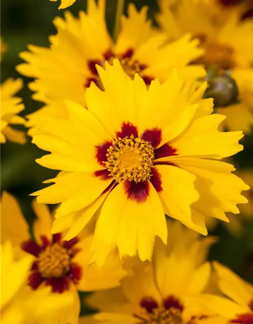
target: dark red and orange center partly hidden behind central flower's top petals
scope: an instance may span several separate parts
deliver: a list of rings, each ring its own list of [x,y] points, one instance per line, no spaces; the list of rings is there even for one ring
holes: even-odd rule
[[[120,64],[123,67],[125,73],[128,74],[132,79],[134,79],[135,73],[138,73],[142,76],[146,85],[150,85],[153,78],[145,75],[144,73],[147,65],[141,64],[138,60],[136,60],[134,58],[134,50],[129,49],[125,51],[125,53],[122,53],[120,55],[116,55],[111,51],[107,51],[104,54],[103,60],[90,60],[88,62],[88,66],[92,76],[88,78],[85,87],[89,88],[91,83],[94,82],[100,89],[103,89],[101,79],[96,69],[96,64],[104,67],[105,62],[107,61],[110,65],[112,65],[114,59],[118,59],[120,61]]]

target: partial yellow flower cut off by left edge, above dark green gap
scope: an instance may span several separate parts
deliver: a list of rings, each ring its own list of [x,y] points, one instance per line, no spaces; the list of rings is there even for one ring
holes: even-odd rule
[[[14,130],[10,125],[24,124],[24,118],[17,114],[24,109],[21,103],[22,99],[14,97],[22,88],[21,79],[7,79],[0,85],[0,143],[5,143],[6,139],[11,142],[24,144],[26,142],[25,134],[21,131]]]

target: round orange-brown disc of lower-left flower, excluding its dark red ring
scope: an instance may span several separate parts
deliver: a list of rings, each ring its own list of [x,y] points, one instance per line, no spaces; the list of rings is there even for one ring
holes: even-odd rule
[[[58,278],[69,271],[70,255],[65,248],[55,243],[39,254],[37,265],[41,277]]]

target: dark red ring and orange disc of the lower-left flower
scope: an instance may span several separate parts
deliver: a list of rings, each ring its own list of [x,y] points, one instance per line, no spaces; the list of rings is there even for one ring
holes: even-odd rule
[[[53,292],[63,293],[70,288],[71,282],[77,284],[81,279],[81,268],[72,262],[79,251],[75,244],[78,238],[64,241],[61,234],[53,235],[50,241],[41,236],[41,244],[29,240],[22,244],[22,249],[36,257],[28,276],[28,284],[36,290],[43,282],[51,286]]]

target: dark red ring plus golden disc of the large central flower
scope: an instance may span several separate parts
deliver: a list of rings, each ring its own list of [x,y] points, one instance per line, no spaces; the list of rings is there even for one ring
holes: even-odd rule
[[[128,198],[138,203],[146,201],[150,183],[161,192],[162,181],[156,166],[174,164],[158,159],[177,155],[177,150],[168,143],[159,146],[161,130],[153,128],[139,135],[136,126],[123,123],[115,138],[96,147],[98,163],[105,169],[96,171],[94,176],[102,180],[111,178],[110,189],[123,182]]]

